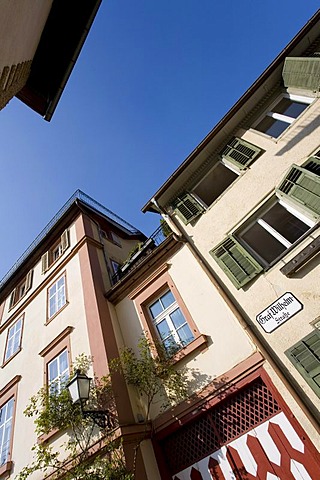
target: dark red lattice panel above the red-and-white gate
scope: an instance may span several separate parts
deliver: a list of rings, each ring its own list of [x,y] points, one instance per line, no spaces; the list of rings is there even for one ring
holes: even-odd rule
[[[280,410],[271,392],[258,378],[162,442],[171,473],[219,450]]]

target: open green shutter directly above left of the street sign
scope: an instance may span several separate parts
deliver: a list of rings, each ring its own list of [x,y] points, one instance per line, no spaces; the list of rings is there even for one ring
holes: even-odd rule
[[[263,270],[263,267],[231,235],[212,249],[210,255],[238,289]]]

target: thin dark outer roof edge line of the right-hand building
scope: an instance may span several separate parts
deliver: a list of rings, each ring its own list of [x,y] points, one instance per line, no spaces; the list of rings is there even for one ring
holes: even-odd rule
[[[154,196],[142,207],[142,212],[155,212],[153,200],[159,196],[176,180],[181,171],[187,167],[199,152],[205,148],[213,137],[226,125],[230,118],[246,103],[250,96],[265,82],[268,76],[279,66],[279,64],[287,56],[288,52],[292,50],[301,39],[314,27],[320,20],[320,9],[308,20],[308,22],[301,28],[297,35],[288,43],[288,45],[279,53],[273,62],[262,72],[257,80],[246,90],[246,92],[239,98],[239,100],[230,108],[230,110],[222,117],[222,119],[213,127],[208,135],[199,143],[199,145],[190,153],[190,155],[179,165],[179,167],[170,175],[168,180],[158,189]]]

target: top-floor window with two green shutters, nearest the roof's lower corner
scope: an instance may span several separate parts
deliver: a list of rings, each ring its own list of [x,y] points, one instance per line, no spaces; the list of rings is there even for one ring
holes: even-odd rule
[[[180,219],[188,224],[201,215],[262,153],[256,145],[233,137],[191,191],[176,198],[172,207]]]

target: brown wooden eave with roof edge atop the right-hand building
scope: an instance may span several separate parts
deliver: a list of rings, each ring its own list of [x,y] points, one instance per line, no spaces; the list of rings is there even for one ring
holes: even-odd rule
[[[143,213],[148,211],[159,213],[155,206],[155,201],[164,206],[175,190],[179,189],[180,184],[183,184],[185,179],[190,177],[190,174],[197,169],[198,163],[200,164],[203,158],[210,154],[214,149],[213,145],[219,145],[224,138],[227,138],[235,126],[248,115],[266,93],[270,92],[281,81],[281,72],[285,58],[288,56],[301,56],[319,36],[319,24],[320,9],[173,172],[154,196],[148,200],[141,209]]]

